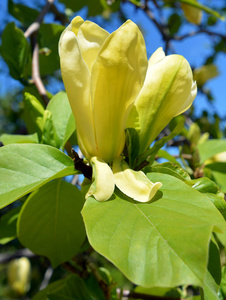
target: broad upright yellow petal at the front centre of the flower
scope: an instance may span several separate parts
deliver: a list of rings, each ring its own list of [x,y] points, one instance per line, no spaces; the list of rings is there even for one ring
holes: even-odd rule
[[[123,150],[126,119],[143,85],[146,69],[143,36],[129,20],[105,40],[92,69],[97,156],[106,162],[111,162]]]

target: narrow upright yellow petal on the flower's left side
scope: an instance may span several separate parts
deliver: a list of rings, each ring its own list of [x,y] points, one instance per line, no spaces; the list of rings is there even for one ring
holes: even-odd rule
[[[96,149],[90,101],[90,72],[82,59],[77,38],[69,30],[61,39],[60,65],[78,129],[79,145],[85,157],[90,159]]]

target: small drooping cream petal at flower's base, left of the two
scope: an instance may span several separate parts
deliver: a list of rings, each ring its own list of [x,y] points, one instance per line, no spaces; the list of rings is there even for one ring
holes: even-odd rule
[[[90,163],[93,167],[93,183],[86,194],[86,198],[94,196],[98,201],[106,201],[112,196],[115,189],[112,170],[99,157],[92,157]]]

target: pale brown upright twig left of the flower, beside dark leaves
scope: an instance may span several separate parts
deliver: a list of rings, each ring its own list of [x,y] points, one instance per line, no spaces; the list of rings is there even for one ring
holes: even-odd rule
[[[40,77],[40,71],[39,71],[39,45],[37,42],[37,37],[36,35],[32,35],[32,41],[34,44],[34,50],[33,50],[33,55],[32,55],[32,79],[33,82],[41,95],[45,105],[48,104],[49,98],[46,93],[45,86],[41,80]]]

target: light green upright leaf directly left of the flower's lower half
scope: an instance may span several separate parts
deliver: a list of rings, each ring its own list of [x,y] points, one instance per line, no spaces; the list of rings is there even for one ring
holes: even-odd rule
[[[59,139],[60,148],[64,145],[75,131],[75,119],[65,92],[59,92],[51,98],[47,108],[52,113],[53,124]]]

